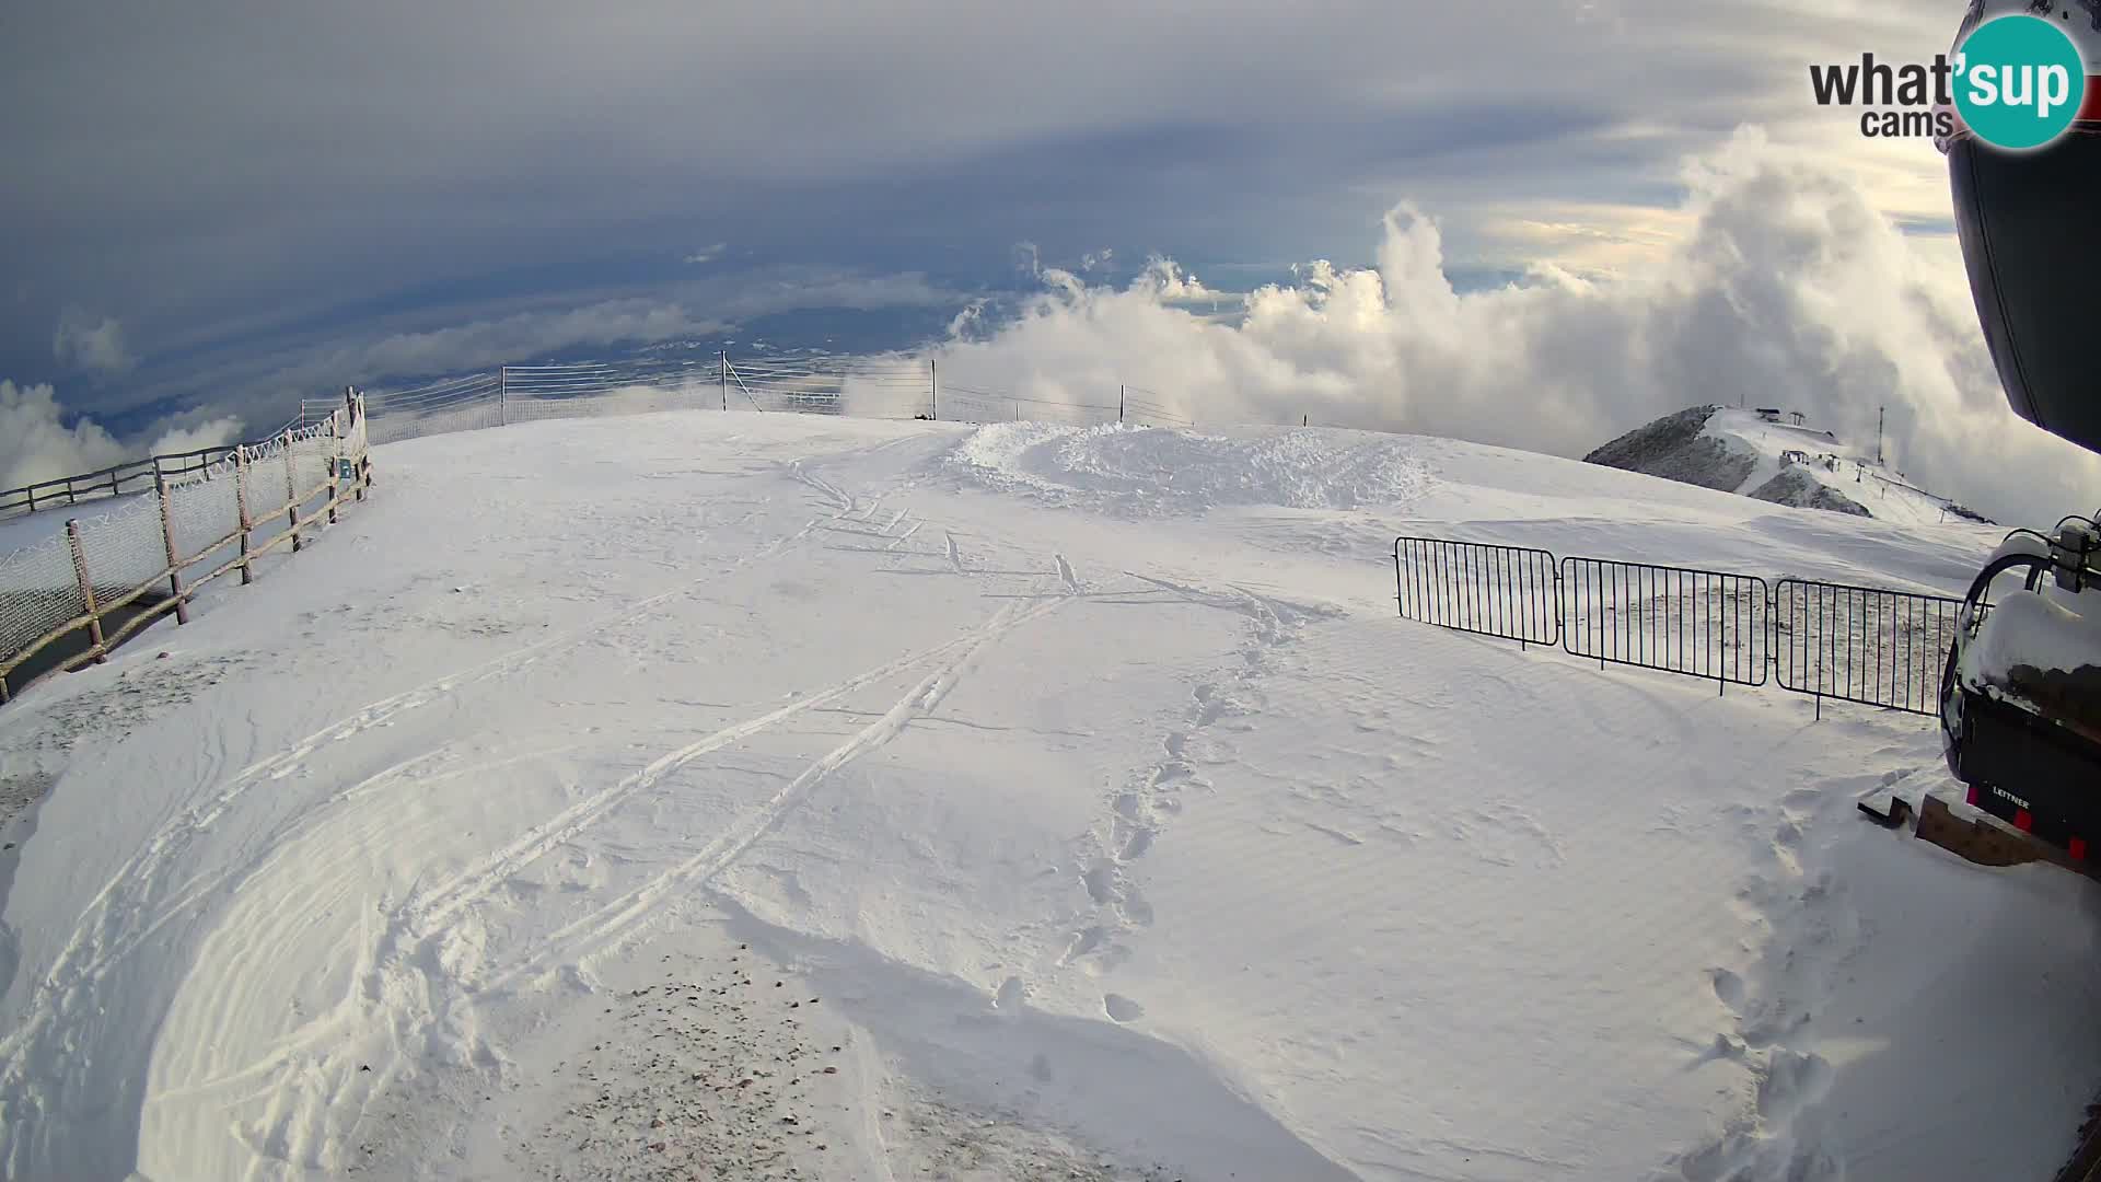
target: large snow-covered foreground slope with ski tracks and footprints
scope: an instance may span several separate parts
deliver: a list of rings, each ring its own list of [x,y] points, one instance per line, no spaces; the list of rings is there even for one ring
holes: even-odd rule
[[[1927,719],[1412,625],[1387,553],[1946,593],[1996,530],[1317,429],[374,465],[0,711],[6,1178],[1971,1182],[2101,1083],[2097,888],[1855,816],[1952,789]]]

